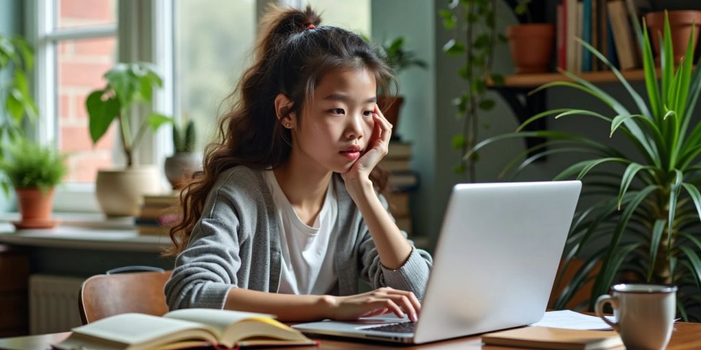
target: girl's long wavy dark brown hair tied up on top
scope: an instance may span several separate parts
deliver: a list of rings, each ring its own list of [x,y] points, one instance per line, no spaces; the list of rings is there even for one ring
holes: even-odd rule
[[[358,34],[320,26],[320,22],[310,6],[305,10],[271,6],[261,20],[255,63],[228,97],[233,104],[219,122],[217,141],[205,148],[203,172],[196,174],[180,195],[182,218],[170,229],[173,246],[164,255],[175,256],[187,246],[219,174],[237,165],[275,169],[285,164],[292,137],[275,115],[278,94],[285,94],[292,102],[285,115],[302,116],[320,80],[332,70],[369,69],[385,91],[390,84],[396,87],[393,71],[369,43]],[[302,119],[297,118],[297,123]],[[370,179],[382,191],[387,174],[376,167]]]

